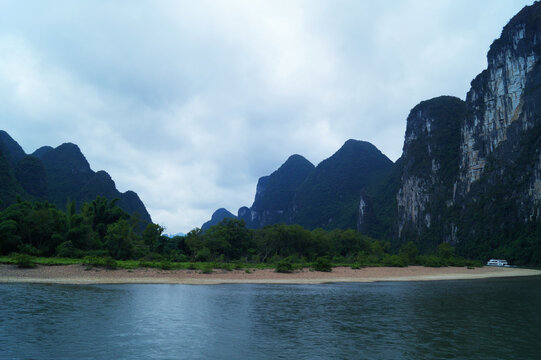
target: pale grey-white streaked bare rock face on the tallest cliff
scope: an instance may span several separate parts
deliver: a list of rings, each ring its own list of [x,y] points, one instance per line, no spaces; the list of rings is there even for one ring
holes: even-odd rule
[[[523,131],[536,119],[523,112],[526,82],[541,56],[539,24],[529,20],[539,4],[521,11],[504,28],[488,53],[488,69],[472,81],[467,102],[472,111],[462,128],[460,182],[464,193],[479,180],[487,157],[508,140],[511,124]]]

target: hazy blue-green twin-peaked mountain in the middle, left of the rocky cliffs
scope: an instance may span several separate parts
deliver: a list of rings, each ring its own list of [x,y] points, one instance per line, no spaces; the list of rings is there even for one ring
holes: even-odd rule
[[[292,155],[259,179],[252,206],[241,207],[237,218],[253,229],[278,223],[308,229],[357,228],[359,200],[375,196],[379,179],[392,169],[393,162],[374,145],[353,139],[317,166]]]

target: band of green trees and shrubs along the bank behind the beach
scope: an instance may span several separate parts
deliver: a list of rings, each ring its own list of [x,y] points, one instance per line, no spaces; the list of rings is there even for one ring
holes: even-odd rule
[[[106,268],[155,267],[225,270],[277,268],[294,271],[309,267],[330,271],[333,266],[482,266],[454,254],[442,243],[420,254],[412,242],[391,252],[389,242],[355,230],[307,230],[299,225],[272,225],[258,230],[241,220],[225,219],[205,232],[167,237],[164,228],[148,224],[138,231],[137,219],[98,197],[79,211],[68,202],[61,211],[47,202],[22,202],[0,212],[0,262],[83,264]]]

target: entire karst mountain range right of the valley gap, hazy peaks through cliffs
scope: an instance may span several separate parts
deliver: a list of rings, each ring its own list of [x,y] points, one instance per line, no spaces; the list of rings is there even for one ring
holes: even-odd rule
[[[539,261],[541,3],[511,19],[487,58],[466,101],[441,96],[411,110],[395,163],[356,140],[316,167],[294,155],[259,179],[237,217],[252,228],[356,228],[395,247],[446,241],[468,256]]]

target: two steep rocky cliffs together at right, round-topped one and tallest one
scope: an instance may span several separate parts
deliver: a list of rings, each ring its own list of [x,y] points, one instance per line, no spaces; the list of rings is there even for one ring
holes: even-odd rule
[[[540,3],[505,26],[487,58],[465,103],[433,99],[408,117],[397,194],[401,241],[449,241],[480,256],[539,233]]]

